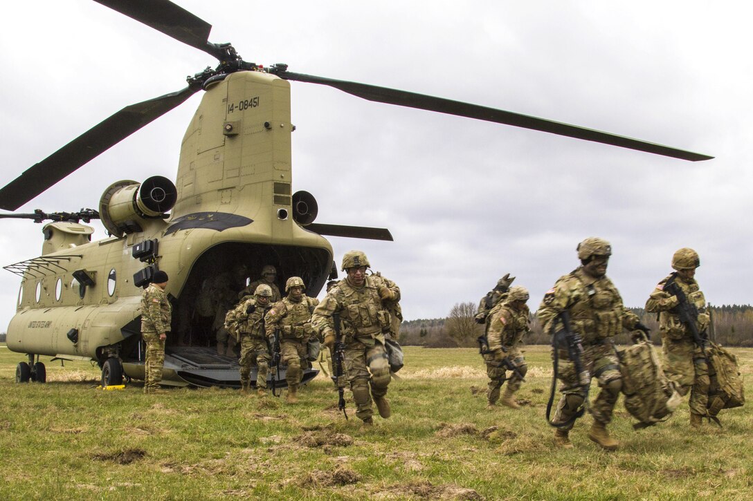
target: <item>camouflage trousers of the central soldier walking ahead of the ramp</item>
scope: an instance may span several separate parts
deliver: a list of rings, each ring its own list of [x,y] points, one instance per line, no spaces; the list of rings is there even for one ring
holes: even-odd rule
[[[387,394],[389,362],[384,345],[375,340],[373,346],[353,339],[345,347],[345,372],[355,402],[355,415],[366,420],[373,415],[372,396],[380,399]]]

